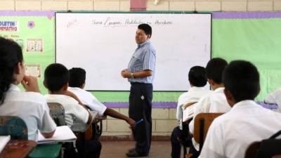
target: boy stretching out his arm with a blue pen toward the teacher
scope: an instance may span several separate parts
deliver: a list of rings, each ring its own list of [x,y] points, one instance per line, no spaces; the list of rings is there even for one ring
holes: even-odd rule
[[[81,103],[87,105],[91,110],[98,112],[99,116],[109,115],[110,117],[126,121],[131,127],[135,126],[135,121],[133,119],[126,117],[124,114],[120,114],[115,110],[107,108],[103,105],[103,103],[100,103],[95,96],[84,90],[86,80],[86,72],[84,69],[74,67],[69,71],[70,82],[68,91],[74,93],[79,100],[81,100]]]

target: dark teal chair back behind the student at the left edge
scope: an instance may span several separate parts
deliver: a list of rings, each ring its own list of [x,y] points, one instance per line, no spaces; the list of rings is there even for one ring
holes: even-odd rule
[[[27,140],[27,125],[20,117],[0,117],[0,135],[11,135],[11,139]]]

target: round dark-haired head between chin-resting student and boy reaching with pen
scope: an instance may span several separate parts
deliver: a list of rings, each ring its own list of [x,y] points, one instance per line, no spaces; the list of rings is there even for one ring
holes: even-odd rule
[[[44,84],[49,91],[59,91],[70,79],[70,72],[64,65],[54,63],[46,67]]]

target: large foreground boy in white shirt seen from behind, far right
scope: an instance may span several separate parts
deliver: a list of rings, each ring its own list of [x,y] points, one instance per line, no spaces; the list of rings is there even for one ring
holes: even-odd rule
[[[259,72],[251,62],[235,60],[223,72],[224,93],[230,112],[217,117],[207,133],[200,157],[244,157],[254,141],[281,129],[281,114],[257,105]]]

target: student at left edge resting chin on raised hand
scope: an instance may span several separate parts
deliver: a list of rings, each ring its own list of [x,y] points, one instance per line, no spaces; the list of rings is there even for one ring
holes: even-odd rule
[[[25,91],[20,91],[22,84]],[[28,139],[37,141],[38,129],[45,138],[55,132],[55,122],[49,114],[37,79],[25,76],[22,48],[0,37],[0,116],[20,117],[27,124]]]

